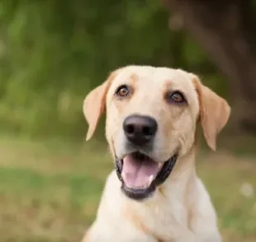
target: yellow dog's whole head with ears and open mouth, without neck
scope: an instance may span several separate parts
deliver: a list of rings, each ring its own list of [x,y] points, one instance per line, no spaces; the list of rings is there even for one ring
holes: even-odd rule
[[[178,156],[195,142],[198,121],[211,149],[230,106],[198,77],[167,67],[123,67],[91,91],[83,104],[90,139],[107,109],[106,136],[122,190],[137,200],[163,184]]]

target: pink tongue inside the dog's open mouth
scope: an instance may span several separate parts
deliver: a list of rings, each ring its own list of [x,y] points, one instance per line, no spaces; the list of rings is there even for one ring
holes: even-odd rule
[[[149,187],[149,176],[158,174],[159,166],[152,160],[136,159],[128,155],[124,158],[121,176],[130,188]]]

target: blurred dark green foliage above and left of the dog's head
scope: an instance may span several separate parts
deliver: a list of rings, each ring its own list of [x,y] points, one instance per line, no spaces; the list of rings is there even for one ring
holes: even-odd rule
[[[160,1],[1,0],[0,22],[3,130],[83,137],[84,96],[127,64],[187,68],[223,90],[191,37],[169,30]]]

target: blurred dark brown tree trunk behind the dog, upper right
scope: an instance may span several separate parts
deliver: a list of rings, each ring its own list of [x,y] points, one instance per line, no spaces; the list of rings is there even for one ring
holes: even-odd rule
[[[163,1],[227,77],[236,128],[256,133],[256,21],[250,1]]]

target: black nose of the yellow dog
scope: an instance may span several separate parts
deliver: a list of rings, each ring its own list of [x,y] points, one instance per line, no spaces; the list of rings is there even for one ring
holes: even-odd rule
[[[155,119],[149,116],[130,115],[124,123],[123,128],[128,140],[135,145],[144,145],[150,142],[158,129]]]

